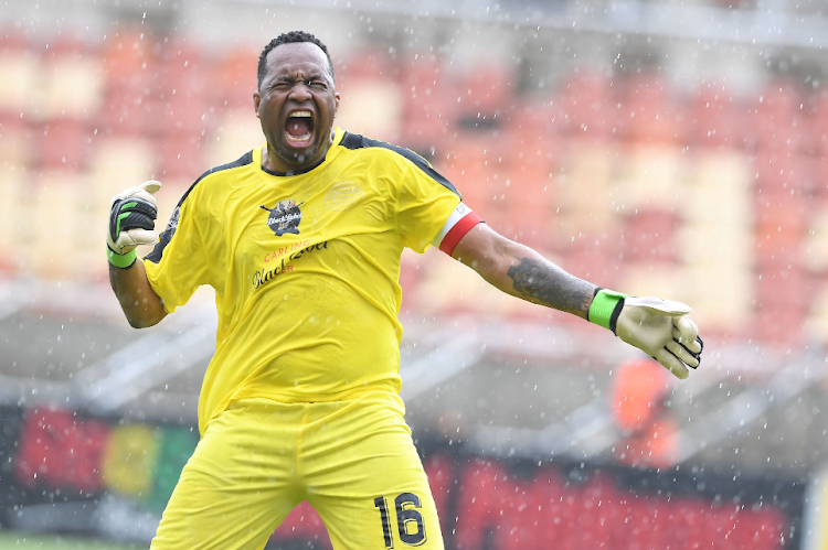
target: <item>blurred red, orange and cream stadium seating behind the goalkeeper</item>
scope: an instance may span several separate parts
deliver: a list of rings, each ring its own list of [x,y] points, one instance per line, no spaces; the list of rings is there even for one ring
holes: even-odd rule
[[[261,47],[209,52],[131,28],[98,44],[0,39],[0,270],[102,280],[112,195],[160,180],[166,219],[203,171],[263,143]],[[736,97],[724,82],[687,93],[655,73],[581,67],[539,94],[519,89],[514,66],[428,52],[357,50],[335,66],[343,128],[420,152],[493,228],[571,272],[684,300],[707,334],[828,341],[818,86],[778,79]],[[402,276],[415,306],[543,315],[469,300],[479,285],[417,261]]]

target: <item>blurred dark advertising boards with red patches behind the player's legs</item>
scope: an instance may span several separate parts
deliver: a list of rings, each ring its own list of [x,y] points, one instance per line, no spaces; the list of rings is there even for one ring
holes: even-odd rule
[[[0,529],[148,541],[197,443],[190,427],[56,408],[4,406],[0,414]],[[771,550],[806,548],[810,536],[803,529],[807,486],[795,479],[489,460],[420,446],[449,549],[545,550],[554,541],[584,550]],[[379,510],[376,529],[382,537]],[[274,539],[330,548],[307,504]]]

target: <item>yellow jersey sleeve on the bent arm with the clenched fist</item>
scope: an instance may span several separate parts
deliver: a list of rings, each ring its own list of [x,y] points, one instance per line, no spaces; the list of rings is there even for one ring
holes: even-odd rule
[[[195,197],[188,191],[159,242],[144,258],[147,279],[168,313],[184,305],[199,287],[208,283],[206,254],[195,222],[194,203]]]

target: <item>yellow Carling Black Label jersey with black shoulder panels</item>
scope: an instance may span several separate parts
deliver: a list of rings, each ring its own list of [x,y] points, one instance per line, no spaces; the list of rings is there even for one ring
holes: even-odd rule
[[[262,152],[202,175],[144,258],[167,312],[202,284],[215,289],[202,433],[238,399],[399,392],[403,247],[424,252],[466,213],[423,158],[339,128],[325,160],[304,173],[269,172]]]

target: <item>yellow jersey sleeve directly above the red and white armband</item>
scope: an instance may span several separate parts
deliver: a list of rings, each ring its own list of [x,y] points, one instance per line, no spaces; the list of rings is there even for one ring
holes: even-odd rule
[[[424,159],[417,157],[407,164],[397,201],[397,228],[403,244],[423,254],[460,203],[460,194]]]

